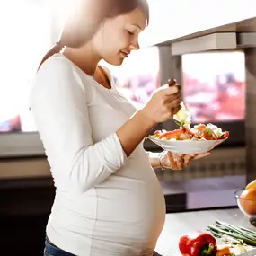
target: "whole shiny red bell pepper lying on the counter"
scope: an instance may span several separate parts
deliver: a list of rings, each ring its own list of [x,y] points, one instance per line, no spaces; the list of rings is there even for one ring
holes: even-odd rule
[[[204,232],[194,232],[181,236],[179,249],[183,256],[215,256],[216,239]]]

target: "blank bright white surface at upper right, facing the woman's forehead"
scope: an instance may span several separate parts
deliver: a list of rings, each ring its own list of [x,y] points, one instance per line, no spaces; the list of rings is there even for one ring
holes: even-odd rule
[[[255,0],[148,0],[150,25],[141,46],[256,16]]]

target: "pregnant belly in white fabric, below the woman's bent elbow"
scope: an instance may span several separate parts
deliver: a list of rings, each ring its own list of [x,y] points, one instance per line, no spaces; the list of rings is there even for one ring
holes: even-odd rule
[[[58,191],[51,223],[58,234],[65,229],[68,239],[75,236],[74,241],[92,248],[93,256],[147,256],[154,251],[164,218],[163,190],[142,152],[80,196]]]

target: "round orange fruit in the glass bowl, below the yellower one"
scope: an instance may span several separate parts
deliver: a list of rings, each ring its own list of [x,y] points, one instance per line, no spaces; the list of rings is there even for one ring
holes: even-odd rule
[[[256,215],[256,190],[243,190],[240,203],[247,214]]]

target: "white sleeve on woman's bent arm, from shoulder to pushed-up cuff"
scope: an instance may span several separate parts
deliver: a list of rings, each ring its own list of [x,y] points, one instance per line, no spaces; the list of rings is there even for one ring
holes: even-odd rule
[[[54,181],[59,190],[74,193],[102,183],[127,158],[116,132],[93,141],[84,85],[91,80],[81,77],[69,61],[53,57],[40,67],[31,90],[31,111]]]

